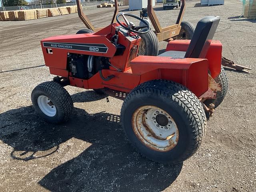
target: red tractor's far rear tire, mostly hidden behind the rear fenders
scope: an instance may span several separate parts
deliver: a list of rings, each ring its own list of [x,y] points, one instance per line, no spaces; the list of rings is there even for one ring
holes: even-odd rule
[[[215,108],[217,108],[222,103],[228,92],[228,78],[222,66],[220,74],[216,78],[214,78],[214,80],[221,85],[221,91],[217,92],[216,99],[208,99],[204,102],[204,104],[206,104],[206,106],[209,106],[211,103],[213,103],[215,105]]]

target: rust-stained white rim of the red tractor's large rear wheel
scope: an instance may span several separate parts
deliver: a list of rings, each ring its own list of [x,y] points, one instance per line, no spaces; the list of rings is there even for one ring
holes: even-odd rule
[[[132,115],[132,129],[138,139],[156,151],[170,151],[178,143],[179,131],[174,119],[156,106],[142,106]]]

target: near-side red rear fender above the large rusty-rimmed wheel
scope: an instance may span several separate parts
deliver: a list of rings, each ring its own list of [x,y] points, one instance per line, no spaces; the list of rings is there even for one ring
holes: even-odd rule
[[[132,74],[140,75],[140,84],[152,79],[180,83],[196,96],[208,90],[208,60],[138,56],[131,61]]]

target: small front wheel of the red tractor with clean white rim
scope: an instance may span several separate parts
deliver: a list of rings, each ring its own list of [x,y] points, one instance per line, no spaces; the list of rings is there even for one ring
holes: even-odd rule
[[[70,94],[54,81],[36,86],[31,93],[31,100],[36,112],[54,124],[68,120],[74,109]]]

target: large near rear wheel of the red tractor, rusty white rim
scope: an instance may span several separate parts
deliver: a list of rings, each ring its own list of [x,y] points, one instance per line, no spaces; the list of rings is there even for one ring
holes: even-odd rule
[[[132,90],[122,105],[121,120],[135,148],[165,164],[192,156],[206,128],[198,98],[181,84],[166,80],[145,82]]]

